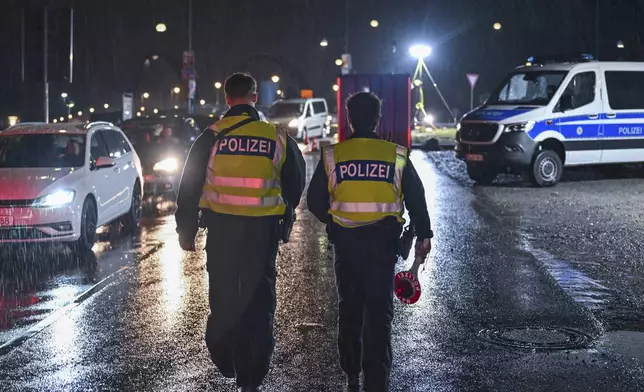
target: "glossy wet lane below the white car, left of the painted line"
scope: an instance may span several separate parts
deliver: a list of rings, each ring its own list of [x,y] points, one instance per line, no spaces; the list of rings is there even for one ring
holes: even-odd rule
[[[0,346],[130,264],[136,255],[158,248],[156,242],[101,238],[93,252],[82,256],[64,245],[38,251],[4,249],[0,255],[5,260],[0,265]]]

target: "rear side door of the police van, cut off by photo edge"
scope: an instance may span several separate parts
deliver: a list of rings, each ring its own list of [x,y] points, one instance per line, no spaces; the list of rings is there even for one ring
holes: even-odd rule
[[[604,69],[602,163],[644,161],[644,69]]]

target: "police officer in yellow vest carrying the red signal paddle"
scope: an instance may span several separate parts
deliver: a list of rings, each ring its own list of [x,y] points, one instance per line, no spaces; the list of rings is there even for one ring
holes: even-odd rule
[[[425,191],[407,148],[380,139],[380,99],[347,101],[352,136],[324,147],[311,183],[309,210],[327,225],[335,248],[340,366],[350,391],[386,392],[392,362],[394,265],[404,219],[416,227],[424,257],[433,237]]]

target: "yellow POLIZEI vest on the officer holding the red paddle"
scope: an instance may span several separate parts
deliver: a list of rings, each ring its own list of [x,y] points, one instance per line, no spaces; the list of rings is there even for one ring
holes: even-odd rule
[[[388,216],[404,222],[402,174],[408,153],[381,139],[354,138],[324,147],[333,221],[344,227],[365,226]]]

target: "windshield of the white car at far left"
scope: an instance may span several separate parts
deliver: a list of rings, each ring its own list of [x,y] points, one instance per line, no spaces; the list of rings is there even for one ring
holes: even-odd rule
[[[85,135],[0,136],[0,168],[81,167]]]

